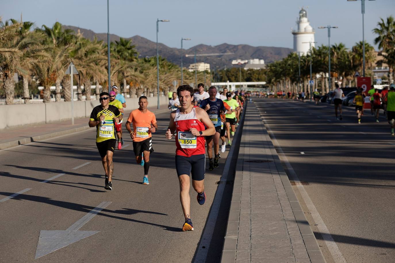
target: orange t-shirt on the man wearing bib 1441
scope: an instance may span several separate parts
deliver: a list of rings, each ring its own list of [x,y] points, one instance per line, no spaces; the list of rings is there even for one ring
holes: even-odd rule
[[[151,135],[151,124],[156,123],[155,114],[147,110],[142,113],[139,109],[135,109],[129,115],[128,122],[133,124],[134,139],[133,141],[144,141]]]

